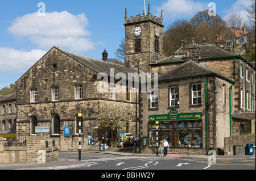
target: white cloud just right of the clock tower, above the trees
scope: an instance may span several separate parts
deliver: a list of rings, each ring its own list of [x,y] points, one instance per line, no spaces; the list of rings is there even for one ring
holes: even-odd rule
[[[199,11],[204,11],[208,8],[208,3],[191,1],[191,0],[168,0],[156,8],[158,13],[163,10],[164,19],[185,18],[193,16]]]

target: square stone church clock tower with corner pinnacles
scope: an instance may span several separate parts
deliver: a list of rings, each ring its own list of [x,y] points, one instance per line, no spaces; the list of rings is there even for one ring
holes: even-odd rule
[[[127,17],[125,9],[125,48],[126,63],[139,66],[150,72],[148,64],[156,63],[163,55],[163,15],[157,18],[150,13],[148,4],[147,14]]]

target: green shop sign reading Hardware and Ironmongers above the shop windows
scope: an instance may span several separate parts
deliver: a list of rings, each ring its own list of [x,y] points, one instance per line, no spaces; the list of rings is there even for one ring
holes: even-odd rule
[[[174,120],[191,120],[201,119],[201,112],[193,113],[178,113],[177,110],[169,111],[168,115],[151,115],[148,117],[149,121],[174,121]]]

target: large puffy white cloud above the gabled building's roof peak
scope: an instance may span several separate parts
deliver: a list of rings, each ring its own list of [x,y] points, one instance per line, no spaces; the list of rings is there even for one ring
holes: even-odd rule
[[[86,36],[88,19],[84,13],[72,15],[67,11],[47,12],[38,16],[37,12],[16,18],[8,31],[14,36],[25,38],[42,49],[60,48],[82,53],[94,49],[94,43]]]

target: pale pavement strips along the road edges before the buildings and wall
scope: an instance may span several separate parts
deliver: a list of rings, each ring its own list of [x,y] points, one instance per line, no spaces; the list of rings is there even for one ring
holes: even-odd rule
[[[70,153],[73,154],[74,152]],[[148,153],[131,153],[130,151],[86,151],[82,154],[110,154],[110,155],[119,155],[119,156],[136,156],[136,157],[160,157],[156,154]],[[69,153],[59,153],[59,154],[69,154]],[[208,159],[210,155],[196,155],[196,154],[168,154],[167,157],[171,158],[205,158]],[[78,156],[77,156],[78,157]],[[216,159],[249,159],[254,158],[254,155],[217,155]],[[60,170],[60,169],[69,169],[82,166],[89,166],[90,162],[88,161],[79,161],[78,159],[59,159],[59,161],[53,161],[48,163],[0,163],[0,170]]]

